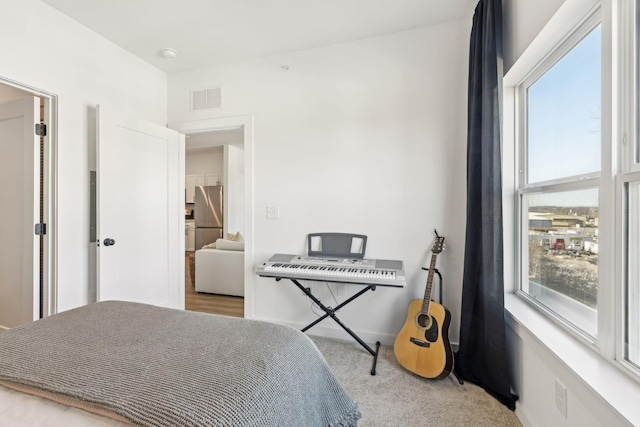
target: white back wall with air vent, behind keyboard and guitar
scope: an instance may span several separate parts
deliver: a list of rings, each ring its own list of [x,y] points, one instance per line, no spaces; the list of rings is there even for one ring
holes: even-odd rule
[[[428,265],[434,228],[447,239],[438,268],[457,341],[470,22],[168,78],[169,122],[254,117],[256,264],[274,253],[305,253],[312,232],[366,234],[367,257],[405,262],[406,288],[378,287],[340,312],[369,341],[393,342],[409,300],[422,298],[420,267]],[[189,111],[191,89],[217,85],[221,110]],[[266,219],[267,206],[279,206],[280,219]],[[296,326],[315,318],[293,284],[253,281],[254,317]],[[360,289],[342,287],[339,300]],[[332,335],[334,325],[323,322],[310,332]]]

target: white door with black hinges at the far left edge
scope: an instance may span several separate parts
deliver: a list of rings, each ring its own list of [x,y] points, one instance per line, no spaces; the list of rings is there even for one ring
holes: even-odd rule
[[[0,104],[0,326],[40,317],[40,100]]]

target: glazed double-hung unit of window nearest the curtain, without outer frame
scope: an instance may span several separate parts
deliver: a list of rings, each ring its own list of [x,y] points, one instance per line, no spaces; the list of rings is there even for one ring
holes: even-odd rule
[[[601,27],[585,23],[519,89],[520,292],[597,338]]]

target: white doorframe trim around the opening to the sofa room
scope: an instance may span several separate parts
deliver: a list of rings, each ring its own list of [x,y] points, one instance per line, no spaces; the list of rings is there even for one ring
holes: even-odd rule
[[[174,122],[167,125],[182,134],[242,128],[244,138],[244,317],[253,318],[253,265],[254,265],[254,185],[253,185],[253,116],[239,115],[213,119]]]

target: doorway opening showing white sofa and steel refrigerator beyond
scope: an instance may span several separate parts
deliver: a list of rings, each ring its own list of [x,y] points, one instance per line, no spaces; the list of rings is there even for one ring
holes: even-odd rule
[[[229,295],[228,288],[217,287],[221,284],[222,277],[228,276],[230,279],[242,280],[244,272],[242,266],[236,263],[221,263],[218,268],[207,268],[207,271],[200,268],[197,285],[195,277],[196,250],[202,249],[204,245],[211,246],[218,237],[236,239],[245,234],[244,131],[242,127],[216,129],[187,133],[185,139],[185,309],[244,317],[242,292]],[[222,213],[222,215],[215,215],[215,221],[213,218],[204,217],[201,212],[203,206],[196,203],[197,193],[209,196],[211,194],[195,191],[197,186],[221,188],[221,198],[206,197],[209,206],[213,209],[210,213]],[[218,188],[213,189],[215,194],[220,194]],[[211,228],[212,225],[215,228]],[[199,236],[198,232],[200,232]],[[206,239],[206,236],[209,238]],[[213,251],[207,255],[235,256],[238,259],[242,257],[240,253],[214,254]],[[220,275],[214,271],[236,268],[239,271],[224,271],[220,272]]]

